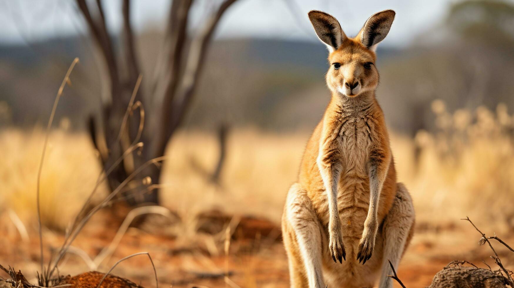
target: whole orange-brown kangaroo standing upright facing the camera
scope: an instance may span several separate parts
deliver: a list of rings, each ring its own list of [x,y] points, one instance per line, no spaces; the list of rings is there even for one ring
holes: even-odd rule
[[[329,51],[332,99],[287,194],[282,232],[291,287],[371,287],[377,279],[379,287],[392,287],[388,259],[398,265],[414,227],[411,196],[396,183],[375,98],[375,50],[395,12],[372,15],[355,38],[327,13],[308,16]]]

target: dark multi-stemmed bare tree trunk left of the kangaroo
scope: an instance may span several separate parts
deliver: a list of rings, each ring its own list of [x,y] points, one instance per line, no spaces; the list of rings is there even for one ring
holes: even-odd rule
[[[132,110],[131,105],[136,106],[137,103],[138,108],[142,109],[140,106],[144,106],[145,102],[149,102],[151,99],[145,99],[141,90],[131,99],[132,91],[140,75],[130,18],[131,2],[130,0],[123,0],[122,2],[124,51],[123,57],[118,57],[107,32],[102,1],[96,0],[95,9],[97,13],[91,13],[85,0],[76,0],[91,36],[102,54],[109,76],[111,101],[102,103],[100,119],[96,121],[95,119],[89,119],[88,127],[93,143],[102,155],[102,164],[105,170],[114,166],[120,158],[123,158],[121,163],[108,175],[108,183],[111,189],[115,189],[135,168],[150,159],[164,155],[166,152],[167,143],[180,126],[194,96],[201,72],[200,65],[206,59],[217,23],[235,1],[223,0],[217,10],[207,17],[207,21],[200,28],[196,37],[191,39],[189,49],[186,49],[185,43],[190,38],[188,37],[187,24],[194,0],[173,0],[166,32],[167,64],[160,72],[162,77],[158,77],[155,85],[157,88],[153,89],[152,94],[149,95],[156,99],[159,98],[159,93],[162,93],[162,103],[156,105],[160,111],[144,114],[157,115],[159,118],[147,121],[142,117],[143,114],[133,113],[131,117],[128,117],[125,124],[123,119],[127,107]],[[122,67],[119,66],[120,63],[117,60],[121,61]],[[122,74],[120,71],[126,71],[126,73]],[[158,87],[161,87],[161,89]],[[131,102],[131,100],[134,100],[134,102]],[[144,143],[143,152],[140,155],[136,155],[136,153],[124,155],[124,152],[131,147],[132,143],[138,140],[136,135],[139,132],[140,122],[143,120],[145,123],[150,122],[152,124],[151,127],[145,127],[144,133],[141,135],[141,141]],[[101,129],[98,129],[98,123],[101,123]],[[105,143],[107,149],[102,149],[101,142]],[[218,168],[218,170],[221,169]],[[150,176],[152,183],[158,184],[160,166],[151,165],[143,170],[141,175],[136,178],[139,180],[135,180],[134,186],[136,189],[140,191],[144,189],[144,186],[138,181],[145,176]],[[159,203],[158,191],[153,190],[144,193],[142,197],[131,204],[141,202]]]

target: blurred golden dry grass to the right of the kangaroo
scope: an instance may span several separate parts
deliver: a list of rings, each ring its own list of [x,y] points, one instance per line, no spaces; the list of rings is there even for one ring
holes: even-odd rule
[[[496,111],[478,107],[449,113],[442,101],[434,101],[432,110],[437,132],[420,131],[413,143],[418,156],[398,161],[418,218],[448,221],[469,215],[496,228],[514,227],[514,116],[503,104]],[[398,147],[395,152],[405,153]]]

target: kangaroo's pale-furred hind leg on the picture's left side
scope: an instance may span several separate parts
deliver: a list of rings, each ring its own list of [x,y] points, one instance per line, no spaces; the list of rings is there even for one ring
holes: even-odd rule
[[[293,184],[282,216],[291,287],[322,288],[321,230],[307,192]]]

